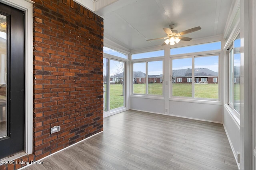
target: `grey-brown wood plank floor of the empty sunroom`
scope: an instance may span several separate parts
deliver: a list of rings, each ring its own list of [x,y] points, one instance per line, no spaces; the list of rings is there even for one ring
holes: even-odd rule
[[[25,170],[238,170],[222,124],[140,111]]]

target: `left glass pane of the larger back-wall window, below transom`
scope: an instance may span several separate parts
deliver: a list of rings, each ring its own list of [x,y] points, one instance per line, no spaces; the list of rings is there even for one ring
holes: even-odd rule
[[[172,60],[172,96],[192,97],[192,58]]]

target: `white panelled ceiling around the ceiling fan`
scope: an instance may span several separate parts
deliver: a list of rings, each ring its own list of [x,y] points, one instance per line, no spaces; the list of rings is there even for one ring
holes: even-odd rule
[[[104,18],[104,38],[129,50],[162,45],[163,27],[175,24],[178,32],[200,26],[184,35],[193,39],[223,34],[233,0],[118,0],[95,13]]]

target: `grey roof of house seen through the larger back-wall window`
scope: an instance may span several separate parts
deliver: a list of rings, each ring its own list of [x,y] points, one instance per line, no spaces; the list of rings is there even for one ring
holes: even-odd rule
[[[209,77],[209,76],[218,76],[218,72],[214,72],[208,68],[195,68],[194,71],[195,77]],[[191,77],[192,69],[181,69],[181,70],[172,70],[172,77]]]

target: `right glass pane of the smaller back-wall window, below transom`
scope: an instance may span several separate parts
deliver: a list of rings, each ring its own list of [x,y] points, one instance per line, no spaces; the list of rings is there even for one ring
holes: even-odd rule
[[[148,62],[148,94],[163,95],[163,61]]]

